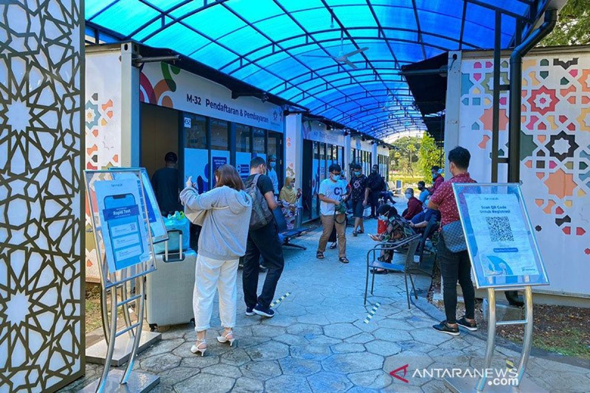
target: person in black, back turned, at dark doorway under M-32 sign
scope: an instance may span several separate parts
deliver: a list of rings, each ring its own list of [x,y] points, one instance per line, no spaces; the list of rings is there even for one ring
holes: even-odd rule
[[[178,170],[176,169],[176,153],[169,151],[164,157],[166,166],[158,169],[152,176],[152,187],[156,194],[156,200],[160,206],[162,216],[182,212],[181,201],[178,197],[180,193]]]

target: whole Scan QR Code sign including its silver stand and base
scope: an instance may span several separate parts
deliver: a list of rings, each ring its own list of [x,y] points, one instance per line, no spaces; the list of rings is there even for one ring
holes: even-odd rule
[[[496,326],[525,325],[516,381],[494,385],[499,378],[446,378],[454,392],[542,391],[525,378],[533,336],[533,285],[549,285],[545,265],[530,223],[520,184],[453,183],[455,201],[463,226],[471,269],[477,288],[487,289],[488,329],[484,369],[491,368]],[[496,321],[496,291],[523,290],[525,319]],[[475,379],[475,380],[474,380]],[[501,379],[501,378],[500,378]],[[506,389],[509,388],[509,389]]]

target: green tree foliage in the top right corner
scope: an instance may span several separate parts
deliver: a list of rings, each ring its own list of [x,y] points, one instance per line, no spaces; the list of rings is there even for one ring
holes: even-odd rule
[[[569,0],[559,11],[557,25],[540,45],[586,44],[590,44],[590,0]]]

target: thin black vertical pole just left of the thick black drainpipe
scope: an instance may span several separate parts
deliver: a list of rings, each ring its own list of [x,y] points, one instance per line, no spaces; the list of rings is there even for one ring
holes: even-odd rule
[[[496,27],[494,28],[494,86],[492,98],[491,120],[491,181],[498,181],[498,146],[500,139],[500,52],[501,52],[502,14],[496,11]]]

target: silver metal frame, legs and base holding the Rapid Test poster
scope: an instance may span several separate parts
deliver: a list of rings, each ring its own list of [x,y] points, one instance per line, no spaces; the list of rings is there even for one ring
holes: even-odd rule
[[[112,179],[113,171],[108,170],[96,170],[96,171],[85,171],[86,172],[86,190],[88,195],[88,200],[90,204],[90,216],[91,222],[94,232],[94,239],[96,240],[96,251],[99,260],[99,267],[100,267],[100,279],[101,279],[101,286],[102,286],[102,293],[101,293],[101,309],[102,309],[102,320],[103,320],[103,331],[105,342],[107,343],[107,351],[106,351],[106,358],[104,358],[104,369],[101,377],[94,381],[92,384],[88,385],[87,387],[81,389],[79,392],[83,393],[103,393],[103,392],[125,392],[125,393],[144,393],[149,392],[153,387],[159,384],[160,377],[158,375],[151,375],[146,374],[145,372],[137,372],[133,371],[133,365],[135,363],[135,358],[140,347],[140,341],[142,341],[142,326],[143,326],[143,318],[144,318],[144,309],[145,309],[145,285],[144,279],[145,275],[152,272],[153,268],[147,268],[146,266],[130,266],[126,267],[119,272],[119,277],[117,277],[117,273],[110,273],[107,265],[106,260],[103,259],[103,253],[100,251],[100,245],[104,246],[102,242],[104,237],[101,230],[101,225],[96,224],[96,214],[95,209],[97,206],[93,206],[93,198],[90,196],[90,193],[93,189],[91,187],[91,183],[93,181],[100,181],[106,179],[100,179],[101,176],[110,177]],[[120,171],[119,171],[120,173]],[[137,175],[139,189],[142,193],[143,200],[145,201],[145,195],[143,194],[143,181],[140,174],[140,171],[135,169],[129,170],[129,173],[133,173]],[[110,180],[109,179],[109,180]],[[96,195],[95,195],[96,197]],[[146,223],[146,229],[148,231],[148,238],[149,238],[149,247],[150,247],[150,254],[152,256],[152,261],[154,259],[153,255],[153,242],[152,242],[152,235],[149,225],[148,219],[148,212],[146,208],[146,204],[143,203],[142,209],[144,215],[143,222]],[[97,211],[97,210],[96,210]],[[99,236],[100,233],[100,236]],[[105,256],[106,257],[106,256]],[[129,296],[127,293],[127,283],[136,283],[135,286],[135,293],[132,296]],[[139,283],[139,285],[137,285]],[[109,314],[107,311],[106,300],[107,300],[107,293],[110,292],[110,324],[107,322],[109,321]],[[118,295],[118,292],[121,292]],[[132,323],[132,319],[129,313],[129,306],[132,303],[136,303],[136,311],[137,311],[137,321]],[[117,331],[117,309],[119,307],[123,308],[123,316],[125,320],[125,326],[120,331]],[[126,335],[127,333],[127,335]],[[146,332],[150,333],[150,332]],[[153,334],[153,333],[151,333]],[[113,360],[113,354],[116,349],[116,341],[122,335],[126,335],[127,342],[124,343],[123,352],[129,352],[129,362],[127,362],[127,367],[123,370],[113,369],[110,370],[110,366]],[[161,335],[159,335],[161,337]],[[121,340],[120,340],[121,341]],[[99,343],[100,344],[100,343]],[[129,347],[129,344],[130,347]],[[146,346],[146,345],[145,345]]]

